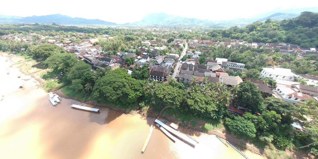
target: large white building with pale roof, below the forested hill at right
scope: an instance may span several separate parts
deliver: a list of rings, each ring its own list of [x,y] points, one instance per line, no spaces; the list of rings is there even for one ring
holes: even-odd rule
[[[278,80],[287,80],[287,81],[294,81],[297,75],[292,73],[290,69],[286,68],[263,68],[261,75],[262,78],[272,78]]]

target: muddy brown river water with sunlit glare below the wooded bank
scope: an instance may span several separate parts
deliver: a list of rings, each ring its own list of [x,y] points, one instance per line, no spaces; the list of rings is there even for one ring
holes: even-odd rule
[[[173,143],[155,128],[146,151],[141,149],[153,118],[123,114],[105,107],[99,113],[76,110],[73,99],[52,106],[47,93],[34,79],[19,89],[19,71],[0,56],[0,158],[3,159],[244,159],[215,136],[193,130],[185,132],[199,141],[195,148],[182,141]],[[7,72],[10,72],[7,75]],[[1,97],[0,97],[1,99]],[[93,107],[92,105],[86,105]],[[251,159],[263,158],[244,151]]]

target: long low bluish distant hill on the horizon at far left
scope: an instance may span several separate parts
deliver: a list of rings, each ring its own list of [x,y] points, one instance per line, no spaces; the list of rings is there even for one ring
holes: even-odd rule
[[[53,14],[47,16],[28,16],[19,19],[0,18],[0,23],[39,23],[39,24],[64,24],[64,25],[117,25],[113,22],[106,22],[99,19],[72,18],[61,14]]]

